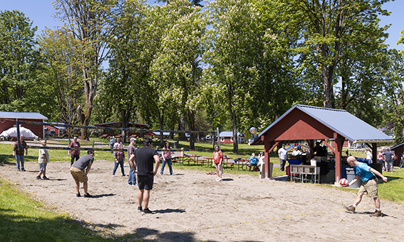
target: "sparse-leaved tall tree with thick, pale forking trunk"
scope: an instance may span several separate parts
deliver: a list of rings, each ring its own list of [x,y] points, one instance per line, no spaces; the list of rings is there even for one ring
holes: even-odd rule
[[[114,31],[113,19],[119,13],[119,0],[57,0],[57,15],[65,22],[63,29],[77,39],[81,53],[84,95],[84,112],[78,107],[81,125],[90,124],[93,100],[99,82],[102,63],[108,56],[106,39]],[[88,140],[87,129],[81,129],[81,139]]]

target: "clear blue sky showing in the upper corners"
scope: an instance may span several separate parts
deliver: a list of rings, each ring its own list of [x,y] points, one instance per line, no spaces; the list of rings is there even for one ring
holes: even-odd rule
[[[37,35],[41,30],[47,28],[55,28],[61,25],[58,19],[54,19],[55,9],[52,6],[54,0],[0,0],[0,10],[19,10],[23,12],[26,17],[29,17],[34,22],[34,26],[38,26]],[[154,0],[148,0],[148,3],[153,4]],[[392,24],[387,32],[389,32],[389,39],[387,44],[390,48],[403,50],[404,45],[396,45],[396,41],[401,36],[401,30],[404,28],[404,21],[402,13],[404,12],[404,1],[396,0],[393,2],[385,3],[384,9],[392,12],[389,17],[381,18],[381,25]]]

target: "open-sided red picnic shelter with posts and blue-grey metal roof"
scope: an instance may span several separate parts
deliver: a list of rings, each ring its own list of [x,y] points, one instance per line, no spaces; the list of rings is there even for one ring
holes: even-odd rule
[[[315,140],[323,141],[335,154],[335,181],[341,178],[343,143],[363,142],[372,149],[376,163],[377,144],[394,142],[385,133],[341,109],[326,109],[317,106],[295,104],[278,120],[254,138],[251,145],[264,145],[265,171],[269,177],[269,153],[279,144],[297,143],[306,140],[313,155]],[[328,140],[328,142],[327,142]],[[334,141],[335,147],[329,145]]]

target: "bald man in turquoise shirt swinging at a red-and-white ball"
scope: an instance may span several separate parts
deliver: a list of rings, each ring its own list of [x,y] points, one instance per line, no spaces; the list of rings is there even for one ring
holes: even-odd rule
[[[358,162],[354,156],[349,156],[347,158],[347,163],[351,167],[354,168],[355,171],[355,178],[351,180],[351,182],[346,186],[349,187],[356,183],[358,179],[362,180],[362,184],[360,185],[358,195],[352,205],[346,207],[344,205],[345,210],[348,212],[354,213],[356,207],[362,201],[363,194],[368,194],[374,200],[374,205],[376,207],[376,211],[371,216],[380,217],[382,216],[382,212],[380,209],[380,199],[378,198],[378,177],[382,178],[385,182],[387,182],[387,177],[383,176],[380,172],[376,169],[369,167],[367,164],[363,162]]]

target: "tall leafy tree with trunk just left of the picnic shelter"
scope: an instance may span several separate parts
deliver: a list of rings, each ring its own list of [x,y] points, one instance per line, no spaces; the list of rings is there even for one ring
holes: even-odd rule
[[[233,131],[233,153],[238,153],[238,123],[242,113],[250,106],[246,101],[251,83],[256,82],[257,66],[254,59],[256,44],[260,41],[257,32],[258,12],[253,1],[211,1],[206,6],[212,28],[206,36],[206,54],[209,63],[206,75],[215,80],[219,89],[224,89]]]

